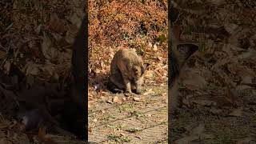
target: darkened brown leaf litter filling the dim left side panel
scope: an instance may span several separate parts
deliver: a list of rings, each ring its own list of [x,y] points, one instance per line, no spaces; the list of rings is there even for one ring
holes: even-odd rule
[[[26,130],[30,128],[26,121],[38,124],[50,116],[55,119],[66,101],[63,87],[70,82],[71,44],[82,22],[82,5],[73,1],[0,3],[4,73],[0,78],[0,143],[77,143],[74,134],[60,127],[53,128],[57,131],[53,133],[47,120],[39,130]],[[32,110],[27,111],[28,107]],[[21,119],[15,118],[17,113]]]

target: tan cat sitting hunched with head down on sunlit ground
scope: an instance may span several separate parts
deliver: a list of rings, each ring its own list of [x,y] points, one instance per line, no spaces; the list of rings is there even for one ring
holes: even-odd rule
[[[110,65],[108,87],[112,92],[125,90],[126,94],[141,94],[145,71],[149,63],[143,63],[135,50],[122,49],[114,54]]]

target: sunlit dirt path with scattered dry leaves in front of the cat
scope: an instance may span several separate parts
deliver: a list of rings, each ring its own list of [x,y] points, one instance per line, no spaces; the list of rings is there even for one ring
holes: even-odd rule
[[[91,103],[89,142],[167,143],[167,86],[145,89],[130,98],[104,92],[106,96]]]

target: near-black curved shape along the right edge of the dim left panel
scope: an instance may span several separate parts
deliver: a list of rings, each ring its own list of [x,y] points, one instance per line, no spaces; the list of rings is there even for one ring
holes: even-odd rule
[[[79,112],[82,114],[83,118],[83,133],[82,140],[88,142],[88,5],[86,1],[85,6],[85,16],[82,20],[82,26],[78,31],[78,36],[74,42],[74,52],[73,52],[73,75],[74,75],[74,85],[75,89],[82,92],[78,93],[79,95],[74,96],[77,98],[75,100],[82,106],[82,110]],[[78,47],[78,48],[75,48]],[[82,57],[82,61],[79,60]],[[82,94],[82,95],[80,95]],[[84,98],[84,102],[79,102],[81,99],[79,97]],[[81,107],[80,107],[81,108]]]

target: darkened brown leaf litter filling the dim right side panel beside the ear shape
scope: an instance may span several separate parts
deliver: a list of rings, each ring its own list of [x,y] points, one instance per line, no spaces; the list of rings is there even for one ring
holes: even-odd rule
[[[178,13],[174,33],[185,42],[201,45],[182,70],[179,95],[183,106],[170,122],[172,142],[255,142],[256,25],[243,17],[255,14],[253,5],[242,1],[232,6],[224,1],[174,1]],[[210,30],[212,27],[222,30]],[[194,122],[202,123],[210,137],[178,131]]]

